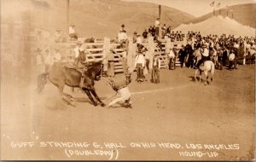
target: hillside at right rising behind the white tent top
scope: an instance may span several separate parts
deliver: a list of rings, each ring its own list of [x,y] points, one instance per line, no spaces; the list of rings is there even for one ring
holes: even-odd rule
[[[241,23],[242,25],[250,26],[250,27],[256,27],[256,3],[248,3],[248,4],[239,4],[239,5],[234,5],[229,7],[229,17],[231,18],[231,12],[230,10],[232,9],[233,13],[233,19]],[[218,9],[215,11],[215,15],[223,15],[227,16],[227,11],[228,9]],[[195,18],[194,20],[188,20],[186,23],[192,22],[192,23],[198,23],[203,20],[207,20],[210,17],[212,17],[211,14],[205,14],[199,18]]]

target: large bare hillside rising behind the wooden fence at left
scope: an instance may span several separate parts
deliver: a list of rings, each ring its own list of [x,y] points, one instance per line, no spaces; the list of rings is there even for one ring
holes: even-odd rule
[[[15,0],[3,1],[7,3]],[[154,25],[159,12],[158,5],[153,3],[129,3],[120,0],[69,2],[70,24],[75,25],[76,31],[84,37],[114,38],[121,24],[125,24],[128,35],[134,31],[142,33],[145,28]],[[23,0],[18,6],[25,4],[31,11],[31,26],[48,29],[51,32],[57,28],[67,32],[66,0]],[[195,17],[177,9],[162,7],[162,22],[166,23],[166,26],[175,27],[193,18]]]

